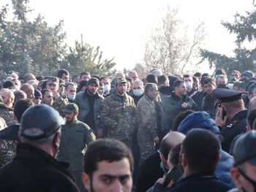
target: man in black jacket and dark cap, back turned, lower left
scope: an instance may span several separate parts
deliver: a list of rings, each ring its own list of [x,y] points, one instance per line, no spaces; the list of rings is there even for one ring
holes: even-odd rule
[[[24,112],[17,154],[0,169],[1,191],[79,191],[71,174],[53,158],[60,145],[62,124],[59,112],[45,104]]]

